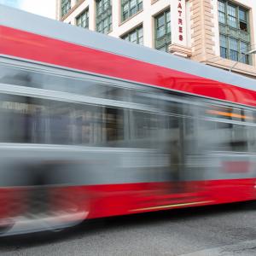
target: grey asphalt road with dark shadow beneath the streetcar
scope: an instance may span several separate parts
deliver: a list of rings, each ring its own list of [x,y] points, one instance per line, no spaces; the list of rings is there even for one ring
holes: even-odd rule
[[[104,218],[0,239],[0,255],[256,255],[256,201]]]

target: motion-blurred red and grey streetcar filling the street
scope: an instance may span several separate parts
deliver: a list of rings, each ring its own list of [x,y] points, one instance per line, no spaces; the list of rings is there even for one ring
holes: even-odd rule
[[[0,227],[256,199],[255,80],[0,5]]]

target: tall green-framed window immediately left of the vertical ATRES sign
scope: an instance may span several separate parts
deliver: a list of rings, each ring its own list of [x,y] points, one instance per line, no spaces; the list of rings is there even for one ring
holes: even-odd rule
[[[154,27],[155,49],[168,52],[171,44],[171,15],[169,9],[154,18]]]

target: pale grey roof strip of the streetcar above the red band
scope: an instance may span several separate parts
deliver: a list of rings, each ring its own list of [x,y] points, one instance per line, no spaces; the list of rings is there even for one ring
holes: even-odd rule
[[[255,79],[250,79],[236,73],[230,73],[217,67],[209,67],[196,61],[170,55],[142,45],[132,44],[99,32],[92,32],[78,26],[70,26],[61,21],[33,15],[1,4],[0,26],[8,26],[22,31],[32,32],[68,43],[79,44],[91,49],[99,49],[115,55],[129,57],[137,61],[167,67],[178,72],[189,73],[201,78],[236,85],[248,90],[256,89]],[[102,44],[102,42],[104,42],[104,44]]]

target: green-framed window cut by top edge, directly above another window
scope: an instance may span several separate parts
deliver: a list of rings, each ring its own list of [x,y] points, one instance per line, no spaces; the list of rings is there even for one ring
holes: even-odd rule
[[[143,0],[121,0],[121,3],[122,21],[127,20],[143,9]]]

